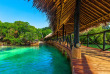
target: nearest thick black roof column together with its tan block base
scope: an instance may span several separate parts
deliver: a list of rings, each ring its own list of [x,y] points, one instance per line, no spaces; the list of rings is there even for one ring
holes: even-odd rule
[[[79,44],[79,20],[80,20],[81,0],[76,0],[76,8],[74,14],[74,48],[72,48],[72,58],[81,59],[81,49]]]

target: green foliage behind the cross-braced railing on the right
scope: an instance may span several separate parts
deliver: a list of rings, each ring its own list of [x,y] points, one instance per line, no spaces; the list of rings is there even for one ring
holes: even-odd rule
[[[106,30],[110,30],[110,29],[104,29],[104,28],[102,28],[102,26],[99,26],[97,28],[93,28],[93,29],[89,30],[86,33],[83,33],[82,35],[99,33],[99,32],[103,32],[103,31],[106,31]],[[94,42],[98,43],[98,44],[103,44],[103,33],[92,35],[92,36],[89,36],[89,37],[92,39],[92,41],[89,39],[90,44],[93,44]],[[105,39],[106,39],[106,43],[110,44],[110,32],[106,32],[106,38]],[[87,36],[81,36],[80,41],[84,44],[87,43]]]

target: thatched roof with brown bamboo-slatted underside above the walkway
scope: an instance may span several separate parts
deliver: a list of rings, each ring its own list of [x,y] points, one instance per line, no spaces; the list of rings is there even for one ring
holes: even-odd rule
[[[45,12],[53,34],[62,35],[62,26],[67,34],[74,32],[76,0],[33,0],[33,6]],[[110,20],[110,0],[81,0],[80,32]]]

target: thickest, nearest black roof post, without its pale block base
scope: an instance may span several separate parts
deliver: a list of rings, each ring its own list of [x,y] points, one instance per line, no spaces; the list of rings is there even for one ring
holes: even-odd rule
[[[76,0],[76,8],[74,14],[74,47],[79,43],[79,17],[80,17],[81,0]]]

